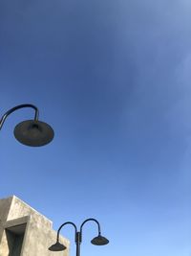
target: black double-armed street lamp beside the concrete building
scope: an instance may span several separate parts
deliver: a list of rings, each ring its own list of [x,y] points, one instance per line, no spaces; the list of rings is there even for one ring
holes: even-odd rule
[[[77,231],[76,225],[74,224],[74,222],[71,221],[67,221],[65,223],[63,223],[57,230],[57,240],[56,243],[53,244],[52,246],[49,247],[49,250],[51,251],[61,251],[61,250],[65,250],[66,246],[64,244],[60,244],[59,243],[59,233],[61,228],[64,225],[67,224],[72,224],[74,226],[74,241],[76,244],[76,256],[80,256],[80,244],[82,242],[82,227],[83,225],[87,222],[87,221],[95,221],[98,227],[98,235],[91,241],[92,244],[95,245],[105,245],[109,243],[109,240],[107,240],[106,238],[101,236],[101,230],[100,230],[100,224],[98,221],[96,221],[96,219],[87,219],[86,221],[83,221],[81,226],[80,226],[80,231]]]

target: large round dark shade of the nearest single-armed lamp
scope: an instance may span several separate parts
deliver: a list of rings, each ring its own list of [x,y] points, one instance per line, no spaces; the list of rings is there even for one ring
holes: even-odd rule
[[[54,132],[53,128],[44,122],[27,120],[14,128],[14,136],[24,145],[40,147],[53,140]]]

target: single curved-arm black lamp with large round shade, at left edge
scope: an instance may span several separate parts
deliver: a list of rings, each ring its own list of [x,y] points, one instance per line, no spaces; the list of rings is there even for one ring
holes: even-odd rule
[[[53,140],[53,128],[38,120],[39,111],[35,105],[23,104],[12,107],[2,116],[0,120],[0,129],[3,127],[6,118],[12,112],[23,107],[32,107],[35,110],[34,119],[19,123],[14,128],[14,137],[20,143],[31,147],[40,147],[50,143]]]

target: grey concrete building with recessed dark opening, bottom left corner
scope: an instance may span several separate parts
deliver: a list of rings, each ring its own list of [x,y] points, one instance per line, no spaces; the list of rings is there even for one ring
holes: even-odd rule
[[[67,249],[61,252],[48,250],[55,241],[52,221],[15,196],[0,199],[0,256],[17,256],[16,250],[20,250],[21,244],[20,256],[69,256],[70,243],[61,236],[60,242]],[[16,243],[16,249],[11,252]]]

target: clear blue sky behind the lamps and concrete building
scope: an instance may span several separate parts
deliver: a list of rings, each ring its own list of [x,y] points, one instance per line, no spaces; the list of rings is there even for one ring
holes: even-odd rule
[[[53,221],[100,221],[82,256],[191,256],[191,3],[1,0],[0,111],[30,103],[53,143],[0,132],[0,198]],[[74,231],[62,235],[72,241]],[[56,253],[55,253],[56,254]]]

